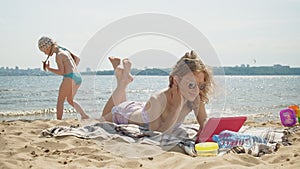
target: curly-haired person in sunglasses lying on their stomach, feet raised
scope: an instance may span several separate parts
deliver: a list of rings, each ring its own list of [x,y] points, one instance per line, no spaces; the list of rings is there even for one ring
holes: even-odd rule
[[[131,62],[109,58],[117,79],[117,87],[106,103],[102,117],[117,124],[137,124],[149,130],[173,131],[193,111],[200,129],[207,118],[205,104],[212,91],[211,73],[194,51],[187,52],[173,67],[169,86],[153,94],[146,103],[128,101],[127,85],[133,80],[130,74]]]

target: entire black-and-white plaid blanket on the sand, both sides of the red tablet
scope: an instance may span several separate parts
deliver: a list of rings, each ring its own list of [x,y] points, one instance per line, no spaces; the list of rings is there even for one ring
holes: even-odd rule
[[[155,146],[179,146],[183,151],[196,156],[194,140],[197,135],[197,124],[183,124],[173,133],[166,134],[157,131],[150,131],[134,124],[115,124],[110,122],[99,122],[85,126],[55,126],[42,130],[41,137],[62,137],[75,136],[83,139],[98,140],[122,140],[127,143],[140,143]],[[248,153],[253,156],[261,156],[277,151],[279,145],[289,145],[288,135],[293,129],[274,129],[266,127],[243,126],[239,132],[262,136],[268,140],[268,144],[254,144],[251,149],[242,146],[230,150],[221,150],[219,155],[225,153]]]

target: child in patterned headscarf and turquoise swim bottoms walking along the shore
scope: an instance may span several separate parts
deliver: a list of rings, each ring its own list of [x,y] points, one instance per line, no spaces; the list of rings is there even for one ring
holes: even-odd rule
[[[52,38],[41,37],[38,41],[39,49],[46,55],[52,56],[55,53],[55,61],[57,69],[51,68],[50,63],[43,62],[45,71],[50,71],[57,75],[63,76],[63,81],[59,87],[59,93],[56,105],[56,116],[58,120],[62,119],[64,102],[67,99],[68,103],[73,106],[78,113],[80,113],[82,119],[89,118],[84,112],[81,105],[74,100],[74,96],[80,87],[82,82],[81,75],[77,70],[79,64],[79,57],[71,53],[69,50],[60,47]]]

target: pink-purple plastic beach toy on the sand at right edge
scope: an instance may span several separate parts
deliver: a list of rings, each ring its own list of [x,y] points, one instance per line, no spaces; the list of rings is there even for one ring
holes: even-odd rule
[[[282,125],[294,126],[297,123],[296,113],[293,109],[283,109],[279,114]]]

